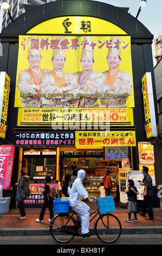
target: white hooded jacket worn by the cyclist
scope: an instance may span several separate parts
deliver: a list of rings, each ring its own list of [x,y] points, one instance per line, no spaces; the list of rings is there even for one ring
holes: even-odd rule
[[[77,172],[77,179],[74,181],[70,191],[70,206],[79,206],[80,204],[82,204],[80,197],[82,197],[83,199],[86,199],[88,197],[88,192],[85,190],[82,184],[82,180],[85,178],[85,174],[85,170],[79,170],[79,172]]]

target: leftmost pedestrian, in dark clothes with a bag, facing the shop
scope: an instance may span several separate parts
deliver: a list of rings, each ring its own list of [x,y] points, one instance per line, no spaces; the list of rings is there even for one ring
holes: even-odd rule
[[[23,197],[28,197],[30,195],[29,181],[30,177],[25,173],[25,169],[20,171],[21,177],[19,183],[16,183],[16,186],[20,186],[22,188]],[[25,220],[25,208],[24,208],[24,199],[20,202],[20,220]]]

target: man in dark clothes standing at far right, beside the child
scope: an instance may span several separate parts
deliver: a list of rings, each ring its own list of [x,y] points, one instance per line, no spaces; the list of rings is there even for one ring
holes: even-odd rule
[[[142,174],[144,174],[144,179],[142,182],[139,180],[139,184],[147,187],[147,194],[144,196],[142,212],[140,212],[140,215],[145,216],[147,209],[148,209],[148,217],[145,219],[153,220],[154,219],[153,218],[153,209],[152,209],[152,204],[151,204],[151,196],[153,193],[153,189],[152,189],[152,179],[151,179],[150,174],[148,174],[148,167],[146,167],[146,166],[142,167]]]

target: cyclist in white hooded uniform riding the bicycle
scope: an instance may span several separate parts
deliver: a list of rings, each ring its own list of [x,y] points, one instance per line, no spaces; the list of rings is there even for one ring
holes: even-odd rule
[[[83,237],[89,237],[93,235],[88,229],[90,208],[86,203],[81,201],[80,197],[87,199],[90,203],[94,203],[94,199],[88,195],[88,192],[83,187],[82,180],[85,178],[85,174],[85,170],[79,170],[79,172],[77,172],[77,178],[70,191],[69,205],[81,216]]]

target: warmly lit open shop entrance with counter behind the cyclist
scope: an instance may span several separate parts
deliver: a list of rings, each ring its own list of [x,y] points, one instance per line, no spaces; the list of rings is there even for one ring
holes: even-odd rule
[[[104,176],[110,172],[112,180],[112,190],[110,196],[116,197],[117,178],[119,170],[130,168],[130,160],[127,147],[118,148],[95,148],[95,149],[72,149],[61,148],[61,185],[63,186],[64,175],[71,173],[73,168],[84,169],[86,172],[83,185],[90,196],[100,197],[99,187]],[[126,180],[123,182],[126,188]]]

